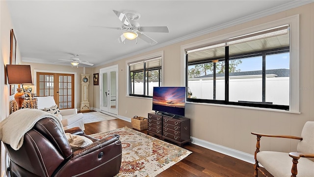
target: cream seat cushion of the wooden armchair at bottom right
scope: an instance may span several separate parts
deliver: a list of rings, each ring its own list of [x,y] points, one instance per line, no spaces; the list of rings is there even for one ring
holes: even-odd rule
[[[286,152],[261,151],[257,160],[274,177],[291,177],[292,157]],[[301,157],[298,160],[297,177],[314,177],[314,162]]]

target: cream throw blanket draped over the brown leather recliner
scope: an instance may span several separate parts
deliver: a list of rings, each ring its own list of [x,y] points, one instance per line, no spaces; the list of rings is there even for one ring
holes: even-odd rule
[[[25,133],[42,118],[53,118],[64,132],[61,121],[51,113],[38,109],[21,109],[0,122],[0,140],[18,150],[23,145]]]

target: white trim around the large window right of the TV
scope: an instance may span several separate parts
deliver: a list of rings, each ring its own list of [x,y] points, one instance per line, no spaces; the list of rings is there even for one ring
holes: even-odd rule
[[[247,33],[263,30],[263,29],[270,29],[274,27],[278,27],[281,25],[290,25],[290,98],[289,98],[289,111],[284,110],[275,110],[275,109],[267,109],[267,108],[255,108],[255,107],[241,107],[241,108],[248,108],[248,109],[257,109],[257,110],[267,110],[267,111],[276,111],[276,112],[288,112],[288,113],[297,113],[299,114],[299,14],[293,15],[290,17],[286,17],[283,19],[275,20],[272,22],[268,22],[265,24],[261,24],[258,26],[254,26],[247,29],[238,30],[235,32],[227,33],[224,35],[208,38],[202,41],[197,41],[194,43],[186,44],[181,46],[181,65],[184,68],[181,71],[181,75],[184,76],[181,78],[181,83],[186,86],[185,77],[186,77],[186,59],[185,59],[185,50],[202,46],[205,44],[229,39],[231,37],[244,35]],[[194,102],[190,102],[193,104]],[[197,104],[207,104],[207,103],[197,103]],[[222,104],[208,104],[208,105],[215,105],[215,106],[227,106],[227,107],[239,107],[233,105],[222,105]]]

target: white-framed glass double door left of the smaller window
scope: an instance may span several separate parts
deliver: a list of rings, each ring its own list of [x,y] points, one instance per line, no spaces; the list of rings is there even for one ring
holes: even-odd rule
[[[101,112],[118,115],[118,66],[110,66],[100,70]]]

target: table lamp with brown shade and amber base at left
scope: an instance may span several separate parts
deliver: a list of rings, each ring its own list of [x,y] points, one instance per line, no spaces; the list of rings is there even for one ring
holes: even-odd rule
[[[18,92],[15,93],[14,99],[20,109],[22,108],[25,99],[25,92],[21,88],[21,84],[32,83],[30,65],[7,64],[6,72],[8,77],[8,84],[18,84]]]

